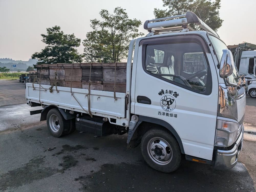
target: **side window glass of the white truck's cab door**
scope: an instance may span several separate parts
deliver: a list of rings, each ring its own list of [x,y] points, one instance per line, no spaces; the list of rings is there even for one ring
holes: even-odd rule
[[[208,65],[197,43],[147,45],[144,65],[148,73],[159,79],[194,92],[206,91]]]

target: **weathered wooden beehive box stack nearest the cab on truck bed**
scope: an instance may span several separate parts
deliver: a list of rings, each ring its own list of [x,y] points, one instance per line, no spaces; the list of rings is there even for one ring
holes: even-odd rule
[[[127,63],[102,63],[103,69],[103,91],[114,91],[126,93],[126,65]],[[116,80],[115,80],[116,75]]]

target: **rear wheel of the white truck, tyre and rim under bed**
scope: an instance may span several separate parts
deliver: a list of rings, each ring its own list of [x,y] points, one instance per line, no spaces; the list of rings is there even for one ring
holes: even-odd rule
[[[52,136],[60,137],[69,131],[69,122],[64,119],[58,109],[51,109],[47,113],[47,126]]]

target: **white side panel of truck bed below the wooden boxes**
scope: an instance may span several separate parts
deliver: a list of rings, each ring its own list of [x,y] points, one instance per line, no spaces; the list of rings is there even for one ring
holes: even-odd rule
[[[33,89],[32,83],[26,83],[26,98],[29,101],[39,103],[39,85],[34,84],[35,90]],[[79,112],[85,112],[82,107],[88,111],[88,89],[72,88],[71,96],[69,87],[57,87],[59,93],[56,92],[55,87],[53,92],[49,92],[49,85],[42,85],[47,91],[41,88],[40,101],[44,105],[56,105],[60,108],[70,109]],[[96,91],[91,90],[91,111],[94,115],[97,113],[106,114],[110,116],[125,118],[125,93],[116,93],[117,100],[114,101],[114,93],[107,91]]]

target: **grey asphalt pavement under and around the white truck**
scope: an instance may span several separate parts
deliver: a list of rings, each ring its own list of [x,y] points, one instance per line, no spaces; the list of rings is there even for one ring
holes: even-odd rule
[[[0,80],[0,93],[1,85]],[[24,84],[12,86],[22,89]],[[25,97],[25,92],[17,94]],[[254,100],[250,101],[249,109],[255,111]],[[55,138],[46,122],[39,121],[40,114],[29,115],[35,108],[26,105],[26,100],[10,104],[14,101],[0,107],[0,191],[255,191],[253,134],[245,134],[241,162],[233,169],[215,170],[183,160],[177,171],[166,174],[148,167],[140,146],[127,149],[125,135],[94,137],[75,131]],[[248,115],[246,125],[253,133],[256,119],[252,118]]]

